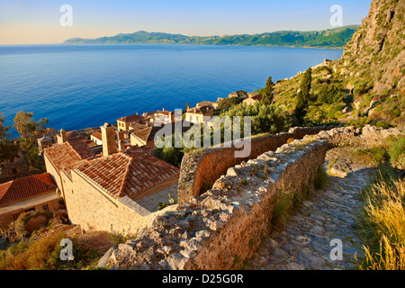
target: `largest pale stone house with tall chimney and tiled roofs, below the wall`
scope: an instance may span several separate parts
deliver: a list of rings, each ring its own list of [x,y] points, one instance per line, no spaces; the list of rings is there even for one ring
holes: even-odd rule
[[[103,153],[94,155],[67,141],[45,149],[47,171],[63,189],[72,223],[85,230],[136,234],[160,212],[138,201],[177,184],[179,169],[154,157],[147,146],[120,150],[114,127],[100,128]]]

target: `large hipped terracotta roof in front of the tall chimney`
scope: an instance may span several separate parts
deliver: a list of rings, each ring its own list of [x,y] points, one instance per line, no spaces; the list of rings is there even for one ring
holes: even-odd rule
[[[115,198],[134,199],[157,184],[178,178],[180,170],[154,157],[153,149],[145,146],[94,158],[74,171]]]

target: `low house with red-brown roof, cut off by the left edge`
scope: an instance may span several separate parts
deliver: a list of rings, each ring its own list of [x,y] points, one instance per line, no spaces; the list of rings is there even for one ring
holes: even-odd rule
[[[0,184],[0,228],[6,229],[24,211],[58,210],[59,199],[57,185],[49,173]]]

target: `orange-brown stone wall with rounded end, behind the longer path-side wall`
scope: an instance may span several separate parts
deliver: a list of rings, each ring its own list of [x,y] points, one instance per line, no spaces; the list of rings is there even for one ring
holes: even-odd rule
[[[235,151],[243,148],[234,146],[230,148],[206,148],[188,153],[183,157],[180,169],[178,202],[184,204],[189,202],[193,196],[198,196],[204,186],[211,186],[231,166],[256,158],[266,151],[274,151],[284,145],[288,139],[302,139],[305,135],[317,134],[321,130],[332,128],[333,126],[297,127],[286,133],[252,137],[251,153],[246,158],[235,157]]]

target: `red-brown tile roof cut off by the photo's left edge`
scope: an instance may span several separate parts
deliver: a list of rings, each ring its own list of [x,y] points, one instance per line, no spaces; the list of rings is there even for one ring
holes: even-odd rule
[[[56,190],[49,173],[31,175],[0,184],[0,205],[21,201],[41,193]]]

